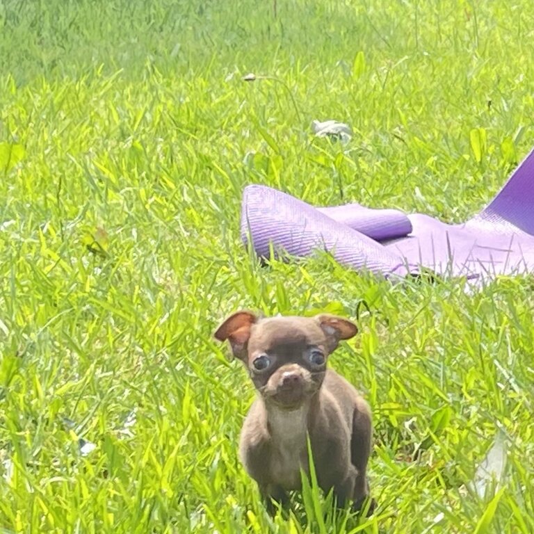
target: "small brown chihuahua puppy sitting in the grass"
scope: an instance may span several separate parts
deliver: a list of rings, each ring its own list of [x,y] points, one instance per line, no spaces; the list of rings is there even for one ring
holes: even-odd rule
[[[333,489],[337,505],[361,510],[369,496],[371,412],[355,388],[327,369],[341,339],[357,327],[332,315],[258,318],[238,312],[218,327],[247,367],[258,395],[241,430],[240,456],[268,510],[287,505],[309,474],[307,439],[318,484]],[[374,501],[367,505],[368,513]]]

